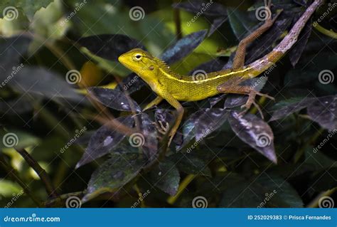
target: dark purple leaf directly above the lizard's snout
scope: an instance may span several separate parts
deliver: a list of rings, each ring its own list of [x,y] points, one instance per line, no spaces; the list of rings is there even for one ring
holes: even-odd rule
[[[134,48],[144,49],[144,46],[134,38],[121,34],[104,34],[80,38],[77,43],[84,46],[96,56],[108,60],[118,60],[118,57]]]

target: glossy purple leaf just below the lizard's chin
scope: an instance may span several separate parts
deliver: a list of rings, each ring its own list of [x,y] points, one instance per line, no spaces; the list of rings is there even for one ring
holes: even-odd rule
[[[141,112],[141,107],[132,100],[131,97],[127,97],[125,93],[116,89],[97,88],[92,87],[89,89],[95,97],[105,106],[114,110],[120,111],[132,111],[136,110]]]

